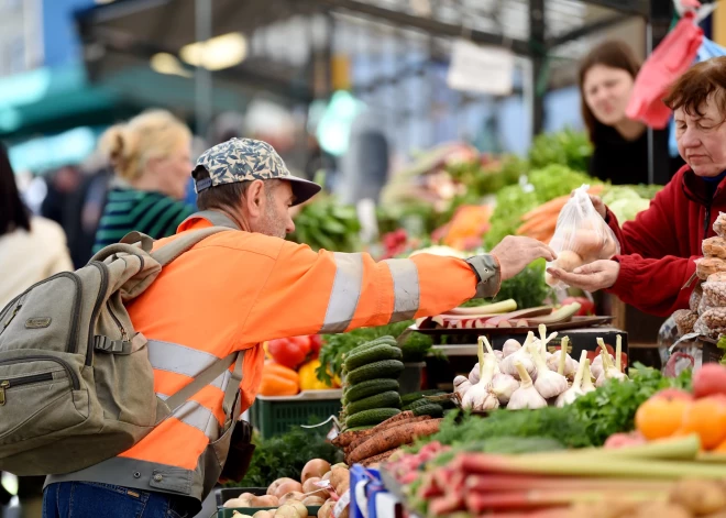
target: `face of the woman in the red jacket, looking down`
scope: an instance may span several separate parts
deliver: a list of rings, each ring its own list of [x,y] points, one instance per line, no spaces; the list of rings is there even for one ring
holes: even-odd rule
[[[726,170],[726,124],[714,96],[701,106],[703,117],[675,110],[675,141],[681,157],[698,176],[718,176]]]

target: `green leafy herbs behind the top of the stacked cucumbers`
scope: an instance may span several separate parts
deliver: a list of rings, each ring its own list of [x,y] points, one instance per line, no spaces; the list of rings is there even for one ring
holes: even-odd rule
[[[348,333],[323,335],[323,344],[320,349],[320,367],[316,371],[318,379],[330,383],[331,375],[340,376],[343,373],[344,356],[354,348],[386,335],[400,337],[406,328],[413,323],[413,320],[406,320],[377,328],[361,328]],[[422,361],[431,351],[432,345],[431,338],[421,333],[410,333],[404,339],[403,343],[398,344],[405,363]]]

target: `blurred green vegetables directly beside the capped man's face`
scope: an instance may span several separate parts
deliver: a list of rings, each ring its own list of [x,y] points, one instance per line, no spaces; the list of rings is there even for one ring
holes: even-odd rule
[[[332,196],[319,196],[295,218],[295,233],[289,239],[312,250],[356,252],[360,231],[354,207],[341,205]]]

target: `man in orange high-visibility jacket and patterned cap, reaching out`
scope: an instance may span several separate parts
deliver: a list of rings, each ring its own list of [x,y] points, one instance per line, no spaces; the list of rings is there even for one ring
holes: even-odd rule
[[[289,208],[320,187],[292,176],[260,141],[232,139],[208,150],[193,175],[201,212],[177,235],[211,225],[230,231],[165,267],[128,306],[129,315],[148,339],[162,398],[218,359],[239,351],[243,362],[117,458],[48,477],[45,518],[194,516],[219,478],[233,423],[254,400],[262,342],[437,315],[472,297],[493,297],[534,260],[554,258],[547,245],[512,236],[466,261],[420,254],[378,263],[285,241],[295,230]]]

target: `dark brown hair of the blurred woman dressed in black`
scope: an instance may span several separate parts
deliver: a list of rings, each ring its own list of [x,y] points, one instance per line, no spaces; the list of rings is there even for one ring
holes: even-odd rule
[[[580,109],[582,111],[582,119],[587,128],[587,134],[593,142],[595,140],[595,129],[601,125],[602,122],[595,119],[587,102],[585,102],[584,85],[585,75],[596,65],[625,70],[635,79],[638,76],[638,71],[640,71],[641,63],[636,57],[630,45],[618,40],[608,40],[601,43],[590,51],[580,63]]]

